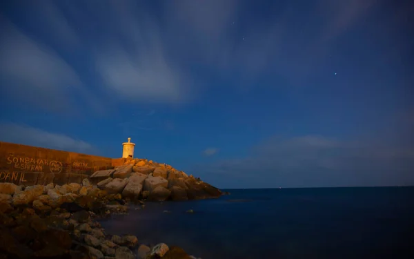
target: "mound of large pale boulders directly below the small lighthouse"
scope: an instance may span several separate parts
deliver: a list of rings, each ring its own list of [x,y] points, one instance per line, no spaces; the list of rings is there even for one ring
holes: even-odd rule
[[[90,177],[99,189],[131,200],[196,200],[217,198],[219,189],[152,160],[127,159],[115,169],[97,171]]]

